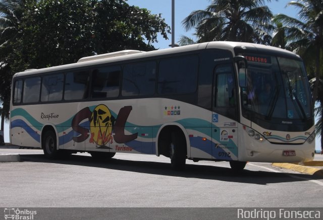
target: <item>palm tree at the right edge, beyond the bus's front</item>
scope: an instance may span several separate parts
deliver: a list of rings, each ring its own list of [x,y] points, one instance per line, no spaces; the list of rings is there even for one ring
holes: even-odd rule
[[[322,77],[320,66],[323,58],[323,2],[321,0],[298,0],[297,2],[290,2],[287,6],[293,6],[298,9],[300,20],[279,14],[273,21],[283,24],[282,29],[284,29],[289,48],[304,57],[305,62],[307,58],[314,60],[313,99],[314,101],[320,101],[322,94],[318,93],[318,86]],[[315,109],[319,120],[315,130],[321,137],[323,137],[322,110],[321,106]],[[323,147],[323,138],[321,138],[321,147]]]

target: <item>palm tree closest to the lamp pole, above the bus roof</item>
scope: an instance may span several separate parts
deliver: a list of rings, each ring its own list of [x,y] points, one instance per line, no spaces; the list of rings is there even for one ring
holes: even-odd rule
[[[268,43],[272,12],[263,0],[212,0],[205,10],[193,11],[182,24],[195,28],[199,42],[242,41]]]

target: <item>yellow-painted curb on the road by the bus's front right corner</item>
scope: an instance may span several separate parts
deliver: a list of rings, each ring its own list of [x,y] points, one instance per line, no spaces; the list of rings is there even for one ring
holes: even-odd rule
[[[308,165],[308,164],[315,164],[315,165]],[[297,164],[289,164],[289,163],[273,163],[275,167],[285,168],[289,170],[294,170],[300,173],[306,173],[309,175],[323,177],[323,169],[314,168],[314,167],[307,167],[307,166],[323,166],[322,161],[311,161],[304,163],[305,166],[297,165]]]

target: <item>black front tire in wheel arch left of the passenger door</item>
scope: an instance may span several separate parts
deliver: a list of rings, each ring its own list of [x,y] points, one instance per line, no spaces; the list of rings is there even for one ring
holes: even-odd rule
[[[170,144],[170,159],[173,170],[182,171],[186,163],[186,145],[183,135],[178,132],[172,132],[172,141]]]

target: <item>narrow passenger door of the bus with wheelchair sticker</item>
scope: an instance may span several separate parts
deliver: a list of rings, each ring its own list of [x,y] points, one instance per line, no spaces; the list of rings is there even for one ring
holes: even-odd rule
[[[232,63],[214,69],[212,88],[212,158],[238,158],[237,84]]]

